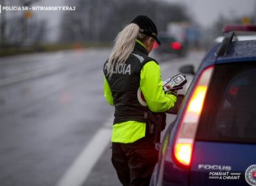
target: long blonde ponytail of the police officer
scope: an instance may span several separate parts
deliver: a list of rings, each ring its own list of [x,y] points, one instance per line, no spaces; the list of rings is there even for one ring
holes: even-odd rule
[[[129,55],[134,50],[136,38],[145,40],[145,34],[141,34],[140,28],[135,23],[130,23],[121,32],[118,33],[113,45],[113,50],[107,62],[107,75],[113,74],[116,63],[121,65],[127,61]]]

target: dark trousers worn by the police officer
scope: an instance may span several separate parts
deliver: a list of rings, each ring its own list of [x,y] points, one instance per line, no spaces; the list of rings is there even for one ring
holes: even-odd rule
[[[148,186],[157,160],[158,151],[150,137],[129,144],[112,143],[111,161],[122,185]]]

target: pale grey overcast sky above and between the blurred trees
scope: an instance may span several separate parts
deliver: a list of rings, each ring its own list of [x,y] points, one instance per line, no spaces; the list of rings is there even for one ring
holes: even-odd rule
[[[156,0],[159,1],[159,0]],[[204,28],[210,27],[214,21],[224,17],[243,17],[255,14],[255,0],[162,0],[170,3],[179,2],[188,6],[190,15]],[[35,6],[64,6],[66,0],[41,0]],[[62,12],[36,12],[37,17],[48,20],[49,32],[55,33],[60,23]],[[53,35],[53,34],[51,34]],[[53,36],[55,37],[55,36]]]

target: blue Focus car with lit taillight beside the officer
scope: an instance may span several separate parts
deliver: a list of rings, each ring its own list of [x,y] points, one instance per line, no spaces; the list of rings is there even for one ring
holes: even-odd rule
[[[233,41],[234,34],[203,59],[150,185],[256,185],[256,41]]]

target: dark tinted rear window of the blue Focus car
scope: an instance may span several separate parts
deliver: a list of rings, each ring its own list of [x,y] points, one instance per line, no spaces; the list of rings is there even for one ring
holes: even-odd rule
[[[256,143],[256,63],[215,66],[196,138]]]

